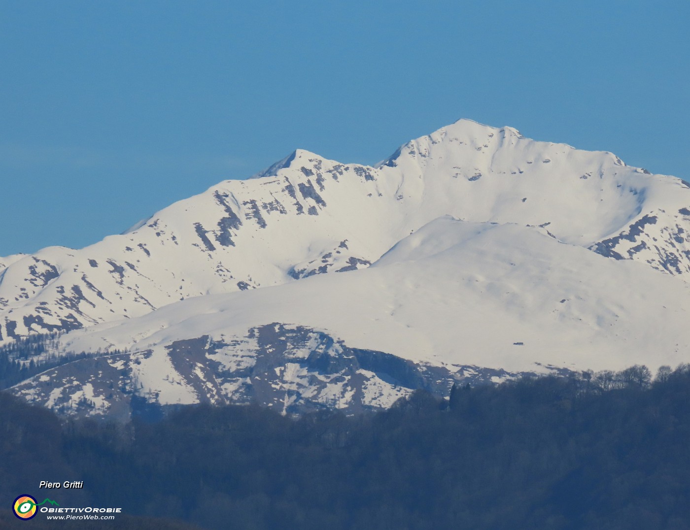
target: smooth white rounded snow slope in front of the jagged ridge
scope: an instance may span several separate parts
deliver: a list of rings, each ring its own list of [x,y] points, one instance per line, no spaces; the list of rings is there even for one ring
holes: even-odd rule
[[[642,263],[609,260],[530,227],[446,216],[368,269],[192,298],[73,332],[63,347],[143,350],[278,322],[429,363],[608,369],[684,360],[689,316],[690,285]]]

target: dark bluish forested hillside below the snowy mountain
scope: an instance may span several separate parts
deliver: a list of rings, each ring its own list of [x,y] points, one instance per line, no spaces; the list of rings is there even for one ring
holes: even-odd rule
[[[61,424],[0,394],[0,432],[8,502],[50,476],[218,529],[690,527],[687,365],[416,391],[351,418],[194,406]]]

